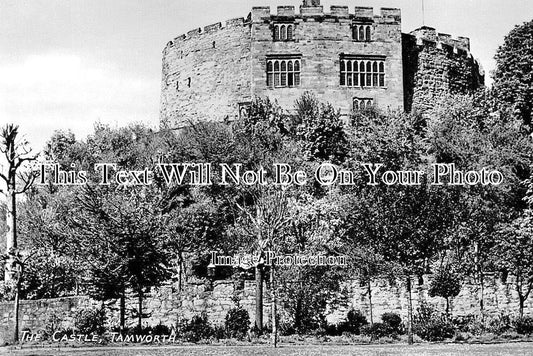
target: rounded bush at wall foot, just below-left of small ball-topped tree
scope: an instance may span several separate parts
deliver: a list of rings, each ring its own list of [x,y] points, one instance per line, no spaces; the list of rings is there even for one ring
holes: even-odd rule
[[[422,304],[413,317],[413,332],[426,341],[442,341],[453,337],[455,327],[431,306]]]

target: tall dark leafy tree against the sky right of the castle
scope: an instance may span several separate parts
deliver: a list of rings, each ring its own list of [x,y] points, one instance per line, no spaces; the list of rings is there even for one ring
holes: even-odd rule
[[[515,26],[496,52],[493,92],[502,106],[531,130],[533,110],[533,20]]]

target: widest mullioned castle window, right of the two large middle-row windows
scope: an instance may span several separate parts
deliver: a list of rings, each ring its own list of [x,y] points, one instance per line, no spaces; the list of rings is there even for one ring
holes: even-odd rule
[[[341,57],[340,85],[346,87],[384,87],[385,59],[365,60],[361,57]]]

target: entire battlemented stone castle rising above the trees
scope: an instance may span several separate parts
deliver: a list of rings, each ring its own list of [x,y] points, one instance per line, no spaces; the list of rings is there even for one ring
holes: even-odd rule
[[[285,108],[305,91],[343,114],[367,106],[424,109],[443,93],[468,93],[484,74],[466,37],[431,27],[401,32],[400,9],[331,6],[320,0],[254,7],[189,31],[163,51],[161,125],[246,115],[254,96]]]

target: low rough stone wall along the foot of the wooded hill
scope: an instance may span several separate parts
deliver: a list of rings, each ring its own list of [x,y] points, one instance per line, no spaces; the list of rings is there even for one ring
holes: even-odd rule
[[[428,286],[431,276],[424,276],[423,283],[413,280],[413,308],[421,302],[427,302],[440,310],[445,309],[443,298],[432,298],[428,295]],[[345,293],[336,298],[336,304],[328,307],[328,321],[338,323],[345,319],[351,308],[361,310],[369,319],[370,305],[367,286],[359,281],[346,281],[343,288]],[[269,322],[270,303],[268,291],[265,290],[264,320]],[[190,319],[193,315],[207,313],[213,324],[224,323],[228,310],[235,307],[235,297],[239,304],[245,308],[251,321],[255,314],[255,285],[254,281],[241,282],[221,280],[206,282],[196,281],[187,283],[182,291],[175,286],[167,285],[154,288],[146,295],[144,312],[148,317],[144,319],[145,325],[175,325],[179,319]],[[481,290],[478,284],[467,282],[463,284],[461,293],[451,304],[453,315],[468,315],[480,313]],[[374,321],[379,321],[380,316],[386,312],[400,314],[404,320],[407,316],[407,292],[403,281],[391,283],[388,280],[377,280],[372,283],[372,309]],[[128,298],[126,304],[127,321],[129,325],[135,324],[132,311],[136,309],[136,299]],[[60,320],[60,327],[72,327],[74,315],[82,308],[94,308],[100,306],[100,302],[88,297],[69,297],[58,299],[46,299],[36,301],[22,301],[20,308],[21,329],[29,328],[37,331],[44,328],[52,320]],[[118,325],[117,303],[107,303],[110,310],[109,321]],[[513,278],[508,277],[502,282],[497,276],[485,277],[484,285],[484,308],[487,313],[499,314],[501,312],[517,314],[518,295],[515,291]],[[533,316],[533,298],[526,301],[524,313]],[[0,303],[0,344],[12,339],[13,303]]]

